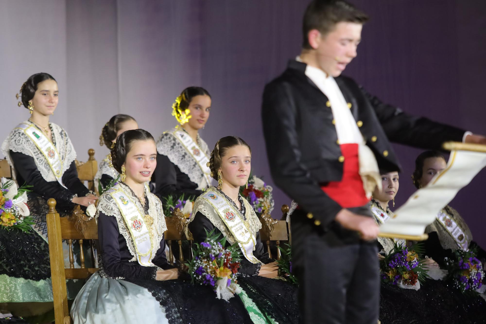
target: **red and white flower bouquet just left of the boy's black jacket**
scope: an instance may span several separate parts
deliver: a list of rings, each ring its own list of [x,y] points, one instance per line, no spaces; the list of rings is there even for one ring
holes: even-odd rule
[[[240,194],[248,200],[255,212],[261,213],[265,209],[270,214],[275,205],[272,190],[263,180],[253,176],[248,179],[248,188],[240,190]]]

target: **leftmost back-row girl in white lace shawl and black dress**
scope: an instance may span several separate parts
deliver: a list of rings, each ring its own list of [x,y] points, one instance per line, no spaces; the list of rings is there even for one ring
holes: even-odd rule
[[[57,108],[59,92],[52,75],[31,75],[16,96],[18,107],[25,107],[29,118],[18,124],[1,146],[13,179],[19,186],[32,186],[27,205],[33,230],[0,230],[0,304],[7,303],[2,309],[18,316],[41,315],[53,308],[47,199],[56,199],[61,216],[70,215],[76,205],[85,208],[96,200],[78,179],[76,151],[68,133],[49,120]],[[69,290],[69,299],[76,292]]]

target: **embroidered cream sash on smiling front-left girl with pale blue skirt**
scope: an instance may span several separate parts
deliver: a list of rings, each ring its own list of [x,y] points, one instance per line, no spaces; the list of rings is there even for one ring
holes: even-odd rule
[[[121,216],[130,231],[137,261],[141,266],[154,267],[154,258],[159,246],[154,246],[153,234],[149,226],[145,223],[143,211],[130,198],[131,195],[123,191],[121,187],[109,191],[111,197],[117,202]]]

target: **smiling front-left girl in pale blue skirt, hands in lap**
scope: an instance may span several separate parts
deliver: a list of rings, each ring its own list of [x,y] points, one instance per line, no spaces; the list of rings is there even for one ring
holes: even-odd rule
[[[162,203],[145,186],[156,156],[154,138],[143,129],[121,133],[111,149],[120,181],[98,201],[100,270],[71,307],[74,323],[168,323],[151,292],[132,283],[178,277],[165,256]]]

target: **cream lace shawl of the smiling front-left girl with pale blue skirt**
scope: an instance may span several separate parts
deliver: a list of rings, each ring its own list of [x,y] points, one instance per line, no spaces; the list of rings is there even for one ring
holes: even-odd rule
[[[117,202],[113,197],[110,196],[110,192],[120,189],[122,186],[126,186],[119,182],[113,188],[105,192],[99,199],[98,199],[98,212],[96,213],[96,220],[98,221],[98,217],[100,216],[100,212],[106,216],[114,216],[117,219],[118,223],[118,231],[121,235],[125,238],[126,245],[128,246],[128,250],[130,254],[132,254],[132,258],[130,261],[137,261],[137,252],[135,250],[135,244],[133,242],[133,238],[128,230],[129,224],[125,223],[123,216],[121,216],[120,209],[118,208]],[[143,206],[140,204],[139,198],[137,198],[128,188],[123,188],[123,192],[131,198],[132,201],[135,202],[139,210],[143,211]],[[167,231],[167,225],[165,223],[165,216],[164,212],[162,211],[162,202],[160,199],[157,198],[156,195],[150,193],[150,191],[145,186],[145,194],[149,200],[149,215],[154,218],[154,225],[152,226],[152,234],[154,238],[154,244],[160,244],[160,241],[164,238],[164,232]],[[153,255],[155,256],[155,255]]]

